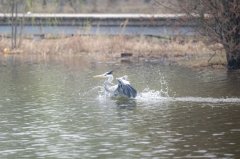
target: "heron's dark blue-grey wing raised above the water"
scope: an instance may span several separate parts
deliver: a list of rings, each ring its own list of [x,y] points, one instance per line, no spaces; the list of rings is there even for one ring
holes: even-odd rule
[[[118,87],[114,92],[115,95],[127,96],[129,98],[135,98],[137,96],[137,91],[130,85],[130,83],[123,79],[117,78]]]

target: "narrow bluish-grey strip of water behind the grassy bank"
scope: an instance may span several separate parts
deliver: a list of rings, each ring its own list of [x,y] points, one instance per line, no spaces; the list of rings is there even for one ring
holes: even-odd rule
[[[18,33],[22,30],[24,35],[51,34],[51,35],[150,35],[150,36],[174,36],[194,35],[196,28],[192,26],[24,26],[18,27]],[[11,35],[11,26],[0,26],[1,34]]]

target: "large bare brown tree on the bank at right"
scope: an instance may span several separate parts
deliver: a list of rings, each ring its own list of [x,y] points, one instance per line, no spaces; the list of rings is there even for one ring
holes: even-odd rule
[[[201,33],[222,44],[228,69],[240,69],[240,1],[179,0],[188,16],[199,16]]]

